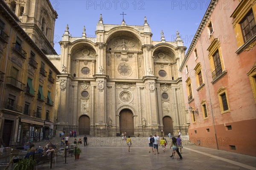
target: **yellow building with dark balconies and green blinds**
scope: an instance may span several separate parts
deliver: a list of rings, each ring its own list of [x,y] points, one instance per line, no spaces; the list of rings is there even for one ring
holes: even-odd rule
[[[0,138],[5,146],[22,144],[24,137],[41,141],[52,133],[58,74],[0,0]]]

